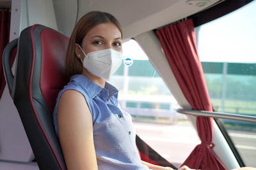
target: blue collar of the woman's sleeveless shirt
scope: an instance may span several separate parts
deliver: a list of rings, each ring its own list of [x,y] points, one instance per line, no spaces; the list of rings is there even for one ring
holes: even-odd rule
[[[97,85],[97,83],[94,83],[92,80],[90,80],[90,78],[84,76],[83,74],[76,74],[71,76],[70,81],[76,81],[79,85],[81,85],[81,87],[85,87],[85,90],[92,98],[97,96],[100,92],[108,94],[108,96],[106,96],[106,99],[111,98],[115,94],[115,96],[117,97],[118,94],[118,90],[108,82],[105,83],[105,88],[102,88],[99,85]]]

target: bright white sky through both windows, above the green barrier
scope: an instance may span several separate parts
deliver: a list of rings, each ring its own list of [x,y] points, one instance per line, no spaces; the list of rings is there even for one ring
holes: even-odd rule
[[[239,10],[200,25],[196,30],[198,55],[202,62],[256,63],[256,1]],[[124,57],[147,60],[134,40],[123,44]]]

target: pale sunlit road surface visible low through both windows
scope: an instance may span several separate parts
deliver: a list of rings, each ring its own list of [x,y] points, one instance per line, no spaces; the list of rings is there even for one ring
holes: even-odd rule
[[[197,132],[189,121],[178,124],[159,124],[134,122],[136,132],[143,141],[151,146],[173,165],[179,167],[189,153],[200,143]],[[256,135],[230,131],[237,150],[246,166],[256,167]]]

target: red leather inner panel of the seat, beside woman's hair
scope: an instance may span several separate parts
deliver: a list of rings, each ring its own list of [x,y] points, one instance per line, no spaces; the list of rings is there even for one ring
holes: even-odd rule
[[[53,29],[44,29],[40,34],[42,43],[42,63],[40,89],[44,99],[53,111],[58,92],[67,83],[66,77],[66,52],[68,38]],[[36,47],[37,48],[37,47]]]

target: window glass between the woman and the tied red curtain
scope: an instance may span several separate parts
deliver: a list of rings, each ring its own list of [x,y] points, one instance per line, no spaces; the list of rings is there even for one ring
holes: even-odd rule
[[[179,105],[138,43],[131,39],[123,50],[132,65],[122,64],[110,80],[119,90],[120,106],[132,115],[138,136],[179,167],[200,143],[197,132],[185,115],[175,111]]]

